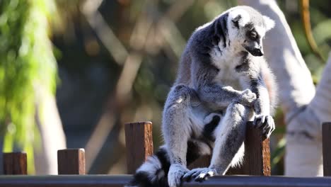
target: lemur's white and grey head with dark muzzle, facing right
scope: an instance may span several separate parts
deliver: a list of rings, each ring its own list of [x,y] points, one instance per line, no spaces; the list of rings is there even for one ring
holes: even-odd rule
[[[262,38],[274,27],[274,21],[250,6],[236,6],[228,11],[228,37],[241,50],[262,56]]]

